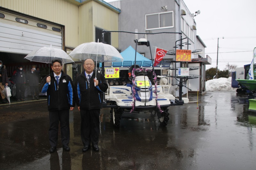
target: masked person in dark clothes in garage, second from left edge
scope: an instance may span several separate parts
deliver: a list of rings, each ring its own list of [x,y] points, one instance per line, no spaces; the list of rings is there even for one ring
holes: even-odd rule
[[[21,65],[18,66],[17,72],[15,73],[15,84],[16,84],[16,98],[17,101],[25,101],[25,73]]]

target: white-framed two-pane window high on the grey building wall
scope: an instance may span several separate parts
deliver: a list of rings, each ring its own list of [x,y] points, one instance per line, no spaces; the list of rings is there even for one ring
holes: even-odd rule
[[[146,30],[173,27],[173,11],[146,15]]]

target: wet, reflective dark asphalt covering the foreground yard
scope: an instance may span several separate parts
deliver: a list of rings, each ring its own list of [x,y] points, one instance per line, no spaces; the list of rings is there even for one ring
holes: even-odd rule
[[[150,114],[123,114],[113,128],[100,115],[100,152],[82,152],[80,113],[70,111],[70,151],[49,153],[46,101],[0,105],[0,169],[256,169],[256,113],[232,92],[207,92],[197,103],[169,107],[159,126]],[[189,97],[196,101],[196,96]],[[60,131],[60,130],[59,130]]]

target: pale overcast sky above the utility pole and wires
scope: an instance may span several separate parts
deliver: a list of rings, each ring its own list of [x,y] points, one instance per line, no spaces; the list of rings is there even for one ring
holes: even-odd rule
[[[228,63],[243,67],[252,62],[252,51],[256,47],[256,0],[183,1],[191,13],[201,11],[194,19],[196,35],[207,46],[205,55],[212,58],[212,64],[206,69],[216,67],[218,37],[218,69],[224,70]]]

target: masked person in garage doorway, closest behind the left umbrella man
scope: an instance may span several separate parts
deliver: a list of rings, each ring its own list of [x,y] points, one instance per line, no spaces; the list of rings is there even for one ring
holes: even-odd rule
[[[31,70],[28,71],[27,73],[27,79],[28,79],[28,84],[30,87],[30,92],[32,95],[32,100],[35,100],[35,93],[36,93],[36,100],[39,100],[39,72],[36,71],[36,65],[31,66]]]

